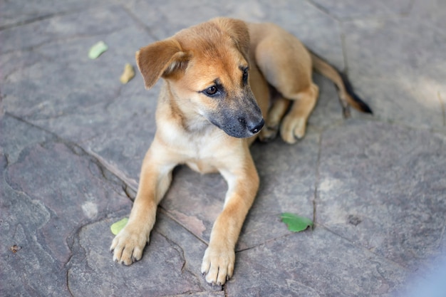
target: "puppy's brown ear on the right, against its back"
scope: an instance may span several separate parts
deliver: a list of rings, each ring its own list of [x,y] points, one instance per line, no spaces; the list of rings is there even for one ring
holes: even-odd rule
[[[243,53],[245,57],[249,57],[249,30],[247,24],[239,19],[229,18],[215,18],[214,24],[217,24],[222,31],[225,31],[231,36],[236,43],[239,51]]]

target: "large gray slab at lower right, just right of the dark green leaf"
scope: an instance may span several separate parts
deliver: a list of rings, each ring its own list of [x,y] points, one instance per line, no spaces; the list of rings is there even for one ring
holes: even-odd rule
[[[346,145],[348,144],[348,145]],[[355,120],[323,133],[317,222],[416,269],[442,251],[446,138]]]

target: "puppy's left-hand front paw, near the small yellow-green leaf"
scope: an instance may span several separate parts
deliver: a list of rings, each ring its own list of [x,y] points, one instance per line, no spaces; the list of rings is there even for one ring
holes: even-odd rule
[[[113,261],[130,265],[142,257],[142,250],[148,243],[149,234],[130,224],[124,227],[112,241],[110,251]]]

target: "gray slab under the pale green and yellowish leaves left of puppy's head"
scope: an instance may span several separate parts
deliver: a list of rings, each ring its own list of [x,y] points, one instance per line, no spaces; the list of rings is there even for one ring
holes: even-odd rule
[[[135,65],[135,51],[150,38],[124,9],[107,6],[41,23],[45,29],[38,33],[31,24],[0,31],[11,50],[19,51],[2,59],[8,66],[2,90],[6,111],[80,142],[101,135],[113,123],[110,118],[123,125],[118,119],[125,121],[140,110],[138,99],[132,101],[127,90],[135,81],[122,85],[119,77],[125,63]],[[100,40],[108,43],[109,50],[92,61],[88,50]],[[33,54],[27,47],[33,48]],[[26,62],[21,62],[22,57]],[[109,115],[115,100],[133,102],[135,108],[121,107]]]

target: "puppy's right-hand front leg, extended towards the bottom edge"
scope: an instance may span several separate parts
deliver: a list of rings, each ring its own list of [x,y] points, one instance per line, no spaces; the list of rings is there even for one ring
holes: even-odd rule
[[[240,166],[241,163],[244,164]],[[224,209],[212,227],[209,246],[202,262],[206,281],[217,285],[224,284],[234,272],[235,244],[259,189],[259,175],[251,155],[248,153],[243,162],[236,164],[237,168],[220,170],[227,180],[228,191]]]

